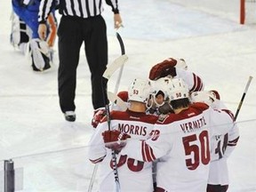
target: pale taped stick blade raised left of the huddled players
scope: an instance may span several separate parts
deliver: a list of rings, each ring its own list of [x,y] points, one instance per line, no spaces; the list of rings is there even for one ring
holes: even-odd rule
[[[120,68],[124,65],[124,63],[128,60],[127,55],[121,55],[116,60],[114,60],[105,70],[103,77],[109,79],[117,70],[117,68]]]

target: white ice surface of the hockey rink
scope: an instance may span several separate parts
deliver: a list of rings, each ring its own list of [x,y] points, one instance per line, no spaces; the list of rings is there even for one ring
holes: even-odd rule
[[[240,140],[228,160],[229,192],[256,191],[256,36],[255,25],[239,24],[239,0],[120,0],[119,30],[129,57],[119,86],[148,77],[157,62],[184,58],[188,68],[216,89],[236,113],[249,76],[252,84],[237,118]],[[20,191],[87,191],[93,164],[86,156],[92,135],[90,72],[84,49],[77,68],[76,122],[64,120],[55,64],[35,73],[28,58],[10,44],[11,1],[0,0],[0,162],[12,159]],[[256,4],[251,4],[255,6]],[[109,63],[120,55],[113,16],[105,6]],[[256,22],[256,16],[254,17]],[[108,88],[114,91],[116,74]],[[3,173],[4,167],[0,166]],[[23,182],[23,183],[22,183]],[[93,190],[96,189],[97,180]],[[3,190],[3,178],[0,176]]]

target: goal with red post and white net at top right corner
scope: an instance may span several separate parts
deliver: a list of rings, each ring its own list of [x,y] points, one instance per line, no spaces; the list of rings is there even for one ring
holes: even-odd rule
[[[256,24],[256,0],[240,0],[240,24]]]

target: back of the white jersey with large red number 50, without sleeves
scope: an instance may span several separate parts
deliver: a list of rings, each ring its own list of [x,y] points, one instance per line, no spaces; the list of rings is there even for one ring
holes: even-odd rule
[[[191,106],[155,125],[159,131],[155,142],[162,143],[164,149],[157,154],[153,147],[154,154],[162,156],[157,163],[158,188],[175,192],[205,190],[210,162],[207,110],[206,106]],[[154,145],[154,140],[151,142]]]

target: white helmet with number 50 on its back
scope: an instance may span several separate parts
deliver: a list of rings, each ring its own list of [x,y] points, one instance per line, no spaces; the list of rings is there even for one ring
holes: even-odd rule
[[[181,78],[173,78],[169,87],[170,100],[180,100],[189,97],[188,85]]]

